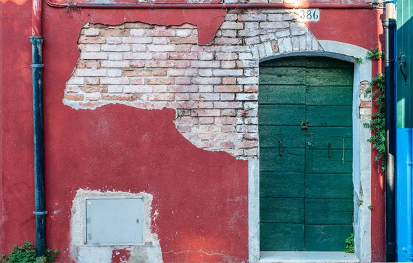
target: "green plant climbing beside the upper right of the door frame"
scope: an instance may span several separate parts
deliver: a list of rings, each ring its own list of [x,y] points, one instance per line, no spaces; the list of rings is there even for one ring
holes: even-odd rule
[[[377,89],[373,91],[374,86],[377,85]],[[381,163],[381,170],[384,170],[384,155],[385,155],[385,95],[384,95],[384,76],[381,73],[377,73],[377,78],[373,78],[370,83],[370,87],[366,89],[366,93],[370,94],[371,98],[374,98],[376,105],[378,106],[377,113],[372,114],[370,122],[363,124],[365,128],[369,128],[373,135],[368,139],[373,148],[377,149],[377,156],[374,157],[376,161]]]

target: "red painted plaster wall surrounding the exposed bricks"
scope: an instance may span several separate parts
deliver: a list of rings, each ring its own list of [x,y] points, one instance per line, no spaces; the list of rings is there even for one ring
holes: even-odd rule
[[[13,244],[34,241],[31,3],[7,1],[2,12],[1,253],[8,253]],[[62,103],[65,82],[79,56],[76,40],[86,22],[120,24],[125,17],[128,21],[163,25],[190,22],[201,25],[200,36],[208,39],[222,21],[213,18],[223,12],[72,12],[44,5],[45,198],[49,212],[46,239],[47,247],[61,249],[59,262],[71,261],[67,250],[70,208],[79,188],[153,194],[153,212],[158,210],[159,216],[152,228],[160,238],[165,262],[248,260],[246,161],[235,160],[224,152],[195,148],[176,130],[175,111],[171,109],[147,111],[116,104],[76,111]],[[320,23],[309,24],[318,39],[367,49],[377,45],[381,31],[376,11],[322,12],[325,14]],[[339,20],[343,12],[346,23]],[[213,25],[211,21],[215,21]],[[383,190],[373,171],[373,200],[380,207]],[[381,261],[383,232],[377,231],[383,229],[383,219],[376,218],[383,218],[383,214],[379,208],[375,211],[376,203],[373,206],[372,249],[374,259]],[[187,249],[224,255],[166,253]]]

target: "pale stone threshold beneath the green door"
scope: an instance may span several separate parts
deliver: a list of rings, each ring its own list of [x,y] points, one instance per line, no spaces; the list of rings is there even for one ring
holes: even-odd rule
[[[261,251],[260,263],[356,263],[360,262],[354,253],[341,251]]]

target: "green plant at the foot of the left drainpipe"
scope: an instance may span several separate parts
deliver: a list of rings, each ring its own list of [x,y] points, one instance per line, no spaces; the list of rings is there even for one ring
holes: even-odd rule
[[[19,247],[16,244],[12,248],[12,252],[8,255],[1,255],[1,263],[52,263],[59,254],[59,249],[51,251],[46,249],[45,255],[36,258],[36,247],[33,247],[31,242],[24,242],[23,246]]]

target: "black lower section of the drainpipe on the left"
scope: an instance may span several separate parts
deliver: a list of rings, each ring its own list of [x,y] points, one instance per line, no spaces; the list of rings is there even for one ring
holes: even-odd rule
[[[36,255],[45,255],[45,186],[43,150],[43,79],[42,60],[43,36],[30,36],[32,43],[32,81],[33,81],[33,131],[34,131],[34,200],[36,211]]]

